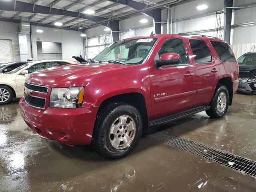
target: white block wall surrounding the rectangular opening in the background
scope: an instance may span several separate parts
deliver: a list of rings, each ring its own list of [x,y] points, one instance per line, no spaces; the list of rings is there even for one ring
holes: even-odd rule
[[[62,59],[74,60],[72,56],[79,56],[80,51],[83,50],[83,38],[80,36],[80,32],[55,29],[48,27],[32,27],[32,50],[33,57],[37,60],[37,41],[44,42],[58,42],[62,43]],[[37,33],[37,29],[42,29],[44,32]]]

